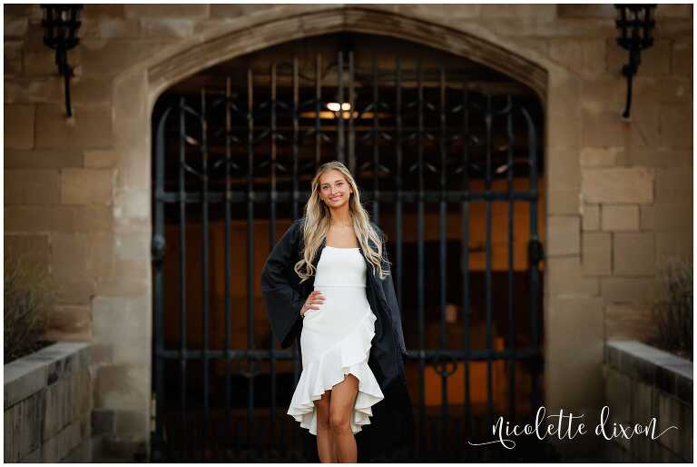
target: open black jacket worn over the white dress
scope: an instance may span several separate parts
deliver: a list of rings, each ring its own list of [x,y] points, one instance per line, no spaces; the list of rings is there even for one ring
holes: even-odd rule
[[[290,225],[274,246],[261,271],[261,291],[271,331],[284,349],[294,341],[300,349],[299,336],[303,318],[299,313],[309,293],[314,290],[314,275],[304,283],[299,283],[299,276],[293,270],[304,249],[304,221],[304,218],[300,218]],[[385,235],[376,224],[370,224],[383,239],[384,258],[389,259]],[[319,256],[325,245],[326,240],[322,242],[314,258],[315,266],[319,263]],[[369,247],[377,251],[374,243],[370,242]],[[358,244],[358,248],[363,254],[363,247]],[[372,407],[370,424],[365,425],[356,435],[358,462],[382,458],[397,461],[394,454],[408,450],[413,445],[414,422],[404,368],[407,350],[392,274],[380,279],[373,272],[373,264],[368,259],[365,261],[368,267],[366,295],[371,310],[378,318],[368,366],[375,374],[385,399]],[[383,271],[389,271],[387,261],[383,261],[382,268]]]

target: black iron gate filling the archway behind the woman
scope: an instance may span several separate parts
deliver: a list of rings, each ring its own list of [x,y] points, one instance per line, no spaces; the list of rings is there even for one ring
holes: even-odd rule
[[[424,69],[420,61],[403,69],[398,58],[394,67],[378,70],[373,56],[362,72],[353,53],[339,53],[329,67],[318,55],[314,66],[308,77],[297,58],[274,63],[264,80],[248,69],[226,77],[223,89],[166,94],[156,106],[152,460],[311,458],[314,437],[285,413],[299,378],[297,349],[280,350],[268,325],[266,333],[255,327],[255,316],[264,313],[254,298],[262,265],[254,255],[254,227],[268,221],[273,245],[282,233],[277,222],[287,225],[300,215],[309,178],[331,159],[355,174],[373,220],[390,239],[417,422],[410,456],[525,458],[522,447],[506,452],[467,440],[491,439],[496,417],[524,419],[542,401],[537,109],[520,96],[478,91],[456,71]],[[479,251],[472,247],[470,221],[476,204],[484,206],[486,241],[475,288],[470,255]],[[498,274],[502,286],[496,295],[494,204],[507,205],[508,226],[508,267]],[[514,235],[514,212],[520,204],[529,208],[521,241],[526,264],[515,276],[520,234]],[[436,240],[427,235],[429,209]],[[459,224],[455,241],[448,241],[448,219]],[[235,223],[246,228],[246,245],[233,241]],[[216,232],[224,243],[211,249]],[[243,298],[231,293],[235,274],[246,278]],[[218,291],[223,302],[211,303]],[[482,297],[481,313],[472,311],[476,296]],[[500,315],[497,297],[506,301],[497,306]],[[448,321],[448,302],[457,303],[456,325]],[[246,315],[233,308],[246,309]],[[480,348],[471,342],[475,322],[484,333]],[[495,322],[505,331],[495,334]],[[237,323],[246,323],[245,345],[239,347],[233,343]],[[430,340],[429,329],[436,329]],[[497,374],[505,380],[494,381],[494,365],[504,369]],[[428,387],[427,372],[437,375]],[[525,383],[516,382],[520,375]],[[456,378],[462,383],[453,392],[449,384]],[[434,394],[431,386],[438,382]],[[486,388],[478,402],[476,384]],[[495,408],[494,391],[502,384],[506,401],[496,404],[504,403],[504,411]]]

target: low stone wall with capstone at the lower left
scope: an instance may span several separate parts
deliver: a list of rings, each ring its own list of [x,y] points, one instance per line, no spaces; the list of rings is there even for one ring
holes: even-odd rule
[[[5,462],[59,462],[92,433],[89,343],[54,343],[5,365]]]

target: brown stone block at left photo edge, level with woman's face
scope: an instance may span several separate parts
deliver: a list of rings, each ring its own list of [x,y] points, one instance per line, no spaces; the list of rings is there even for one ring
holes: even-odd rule
[[[56,169],[5,170],[5,204],[58,204],[61,175]]]

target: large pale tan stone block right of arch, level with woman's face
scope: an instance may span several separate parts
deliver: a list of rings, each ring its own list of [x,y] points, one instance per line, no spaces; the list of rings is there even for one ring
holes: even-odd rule
[[[653,203],[653,169],[645,167],[584,168],[581,191],[586,203]]]

